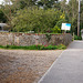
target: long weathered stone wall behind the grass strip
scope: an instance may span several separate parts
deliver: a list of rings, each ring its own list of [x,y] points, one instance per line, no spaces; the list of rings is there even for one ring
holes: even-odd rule
[[[72,41],[72,35],[66,34],[32,34],[0,32],[0,45],[48,45],[65,44]]]

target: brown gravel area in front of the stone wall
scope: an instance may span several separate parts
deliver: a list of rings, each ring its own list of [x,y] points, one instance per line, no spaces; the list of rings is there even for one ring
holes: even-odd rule
[[[62,50],[0,50],[0,83],[38,83]]]

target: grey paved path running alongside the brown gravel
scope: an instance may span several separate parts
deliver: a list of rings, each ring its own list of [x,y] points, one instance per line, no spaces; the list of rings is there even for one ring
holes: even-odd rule
[[[83,41],[74,41],[38,83],[83,83]]]

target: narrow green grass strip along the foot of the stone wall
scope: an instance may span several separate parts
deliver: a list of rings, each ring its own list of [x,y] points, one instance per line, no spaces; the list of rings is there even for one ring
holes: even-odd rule
[[[30,45],[30,46],[17,46],[17,45],[0,45],[0,49],[11,49],[11,50],[64,50],[65,45]]]

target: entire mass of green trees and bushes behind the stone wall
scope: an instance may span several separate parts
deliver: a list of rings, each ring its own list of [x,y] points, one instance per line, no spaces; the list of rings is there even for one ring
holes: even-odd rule
[[[0,22],[9,23],[14,32],[60,32],[58,29],[66,22],[72,24],[70,32],[77,33],[77,0],[70,0],[69,3],[66,0],[4,1],[6,4],[0,4]],[[81,29],[83,29],[83,0],[81,0]]]

